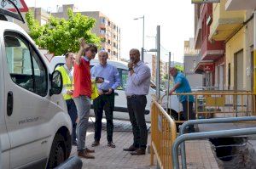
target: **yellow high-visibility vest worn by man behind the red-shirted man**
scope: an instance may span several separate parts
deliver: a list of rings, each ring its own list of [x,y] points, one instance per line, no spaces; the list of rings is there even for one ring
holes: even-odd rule
[[[65,69],[65,67],[62,65],[62,66],[57,67],[56,70],[61,72],[63,87],[65,87],[66,90],[72,90],[73,83],[72,83],[72,80],[70,79],[70,77],[68,76],[67,70]],[[72,96],[68,95],[67,93],[63,93],[63,97],[65,100],[72,99]]]

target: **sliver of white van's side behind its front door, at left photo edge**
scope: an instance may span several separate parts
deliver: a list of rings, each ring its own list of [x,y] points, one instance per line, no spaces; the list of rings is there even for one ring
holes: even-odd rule
[[[1,41],[1,40],[0,40]],[[0,43],[0,48],[2,42]],[[5,124],[6,96],[4,95],[3,50],[0,49],[0,168],[9,168],[9,136]]]

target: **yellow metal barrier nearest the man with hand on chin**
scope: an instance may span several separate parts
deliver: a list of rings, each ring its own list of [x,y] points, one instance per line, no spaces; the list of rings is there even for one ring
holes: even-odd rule
[[[160,104],[151,104],[150,162],[154,165],[154,154],[162,169],[172,169],[172,144],[176,139],[176,124]]]

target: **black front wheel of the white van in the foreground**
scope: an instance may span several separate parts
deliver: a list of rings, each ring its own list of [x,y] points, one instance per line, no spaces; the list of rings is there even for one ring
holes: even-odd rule
[[[50,149],[47,168],[55,168],[65,161],[65,149],[65,139],[57,133]]]

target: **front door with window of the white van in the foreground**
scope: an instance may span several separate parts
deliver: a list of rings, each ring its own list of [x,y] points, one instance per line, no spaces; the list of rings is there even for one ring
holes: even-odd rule
[[[45,134],[49,133],[45,131],[49,121],[47,70],[26,37],[6,31],[4,45],[4,95],[9,106],[4,111],[11,145],[10,167],[45,164],[49,142]]]

